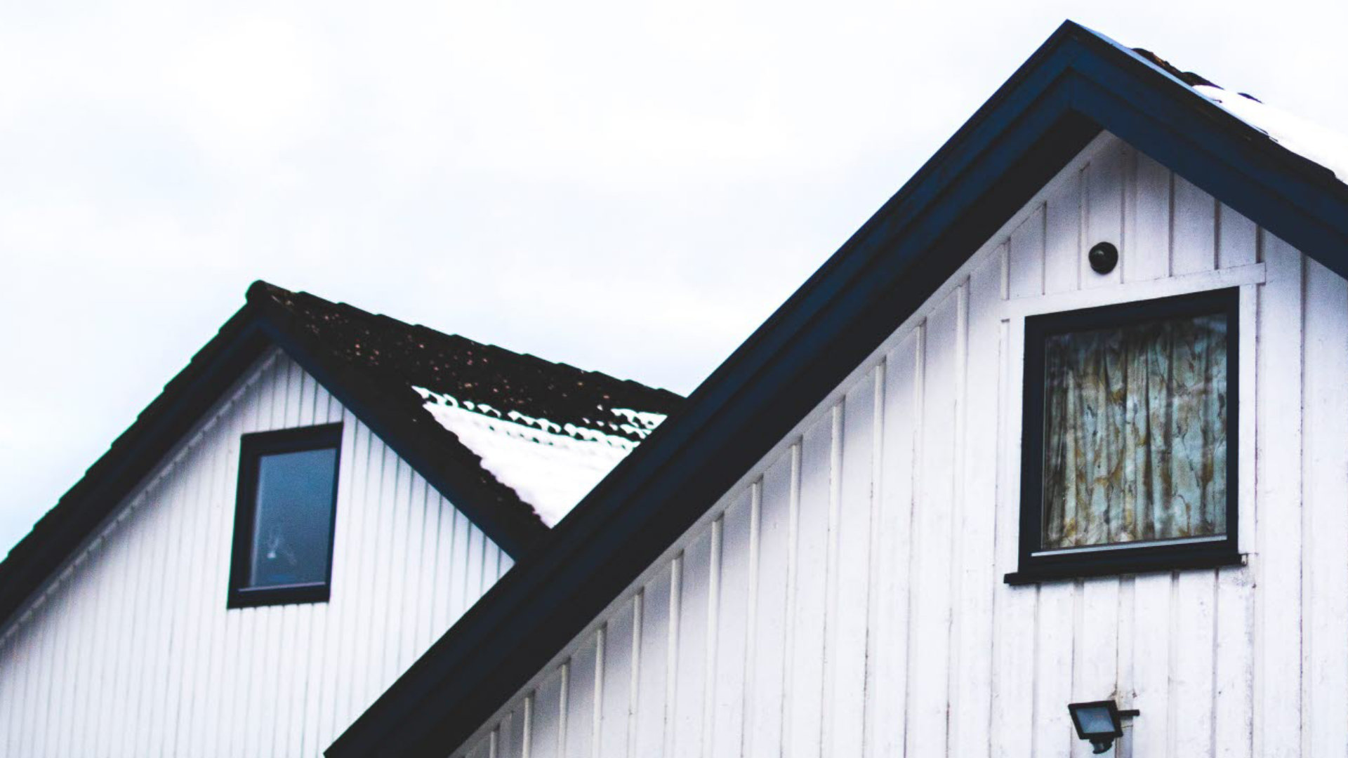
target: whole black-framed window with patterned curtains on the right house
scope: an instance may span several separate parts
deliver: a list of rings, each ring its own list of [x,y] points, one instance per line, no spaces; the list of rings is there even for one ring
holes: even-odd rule
[[[1029,317],[1010,583],[1239,562],[1239,290]]]

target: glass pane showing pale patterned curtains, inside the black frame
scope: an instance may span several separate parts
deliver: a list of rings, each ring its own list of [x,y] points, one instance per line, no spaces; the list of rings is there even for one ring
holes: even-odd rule
[[[1227,318],[1045,343],[1043,548],[1227,531]]]

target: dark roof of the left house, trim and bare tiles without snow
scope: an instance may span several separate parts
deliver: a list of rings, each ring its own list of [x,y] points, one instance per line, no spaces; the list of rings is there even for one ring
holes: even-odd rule
[[[681,401],[636,382],[259,281],[248,287],[245,305],[0,562],[0,623],[24,606],[226,390],[274,348],[322,384],[511,557],[546,535],[547,525],[534,504],[484,465],[477,450],[438,422],[419,388],[453,390],[477,402],[489,398],[500,407],[563,421],[568,413],[600,403],[638,407],[663,418]],[[485,397],[473,395],[473,384]],[[628,449],[650,432],[612,426],[615,437],[630,438]]]

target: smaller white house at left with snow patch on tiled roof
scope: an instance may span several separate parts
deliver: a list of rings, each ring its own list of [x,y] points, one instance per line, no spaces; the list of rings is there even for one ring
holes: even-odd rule
[[[319,755],[678,405],[253,285],[0,564],[0,754]]]

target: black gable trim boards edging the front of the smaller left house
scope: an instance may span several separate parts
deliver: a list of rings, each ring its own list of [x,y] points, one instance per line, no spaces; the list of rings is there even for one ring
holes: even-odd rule
[[[392,411],[392,403],[365,378],[324,356],[266,297],[266,282],[248,287],[247,302],[220,328],[136,419],[62,495],[0,562],[0,627],[59,571],[80,545],[117,511],[125,496],[150,475],[201,415],[214,405],[270,345],[278,345],[311,374],[346,409],[408,465],[473,521],[497,546],[519,558],[547,534],[532,508],[504,484],[483,494],[483,483],[465,472],[460,456],[445,449],[462,445],[427,414],[425,422]],[[408,386],[408,392],[414,390]],[[466,450],[466,448],[464,448]],[[476,453],[468,450],[472,457]],[[491,484],[485,484],[489,487]],[[489,495],[489,496],[488,496]],[[519,507],[483,507],[500,496]]]

